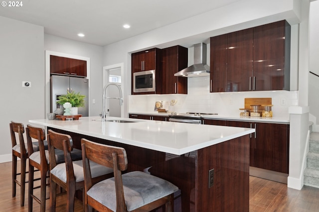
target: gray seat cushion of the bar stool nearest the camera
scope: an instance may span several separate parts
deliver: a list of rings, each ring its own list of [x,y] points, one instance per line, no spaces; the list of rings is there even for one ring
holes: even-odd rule
[[[140,171],[123,174],[122,180],[128,211],[133,211],[178,190],[170,182]],[[87,195],[112,211],[116,211],[114,178],[95,184]]]

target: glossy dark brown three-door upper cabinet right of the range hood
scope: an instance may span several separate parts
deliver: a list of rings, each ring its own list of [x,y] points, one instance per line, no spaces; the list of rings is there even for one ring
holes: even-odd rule
[[[210,92],[290,90],[290,25],[211,37],[210,67]]]

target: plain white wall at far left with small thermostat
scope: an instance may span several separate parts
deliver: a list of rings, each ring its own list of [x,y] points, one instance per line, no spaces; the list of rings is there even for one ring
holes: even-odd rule
[[[0,16],[0,162],[11,161],[9,122],[45,118],[44,29]],[[22,81],[31,87],[22,88]]]

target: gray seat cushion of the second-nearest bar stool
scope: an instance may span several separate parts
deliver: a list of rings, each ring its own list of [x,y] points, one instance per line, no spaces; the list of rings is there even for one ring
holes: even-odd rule
[[[90,161],[90,168],[91,168],[91,175],[92,178],[106,175],[113,172],[113,169],[107,168],[105,166],[99,165],[97,163],[94,163]],[[84,181],[84,173],[83,173],[83,161],[73,161],[73,170],[74,170],[74,176],[75,176],[75,182],[81,182]],[[62,180],[64,183],[66,183],[66,167],[65,163],[60,163],[56,165],[52,170],[51,174],[58,177],[60,180]]]

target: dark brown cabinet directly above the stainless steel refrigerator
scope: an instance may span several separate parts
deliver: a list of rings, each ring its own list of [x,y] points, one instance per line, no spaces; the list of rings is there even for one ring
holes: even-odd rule
[[[85,60],[50,55],[50,73],[86,77],[87,63]]]

